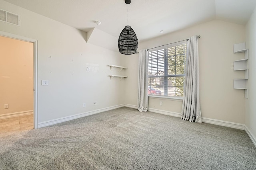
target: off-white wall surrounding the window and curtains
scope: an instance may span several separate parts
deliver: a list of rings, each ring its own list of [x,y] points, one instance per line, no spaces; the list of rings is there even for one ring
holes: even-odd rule
[[[201,35],[198,45],[202,117],[244,124],[244,90],[233,89],[233,79],[244,78],[244,72],[233,71],[233,61],[244,58],[243,53],[233,53],[233,44],[245,42],[244,25],[214,20],[139,43],[139,49],[181,41],[192,35]],[[137,89],[138,54],[126,58],[126,63],[134,68],[127,70],[130,78],[126,83],[129,89]],[[128,90],[125,96],[126,104],[137,105],[137,93]],[[149,98],[149,108],[180,113],[181,107],[182,100]]]

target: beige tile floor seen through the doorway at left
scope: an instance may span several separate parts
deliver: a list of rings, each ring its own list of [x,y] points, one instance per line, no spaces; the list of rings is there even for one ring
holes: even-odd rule
[[[34,129],[34,115],[0,119],[0,137]]]

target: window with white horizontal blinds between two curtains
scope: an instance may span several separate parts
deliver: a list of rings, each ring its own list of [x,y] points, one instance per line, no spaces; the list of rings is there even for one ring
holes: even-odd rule
[[[186,40],[148,53],[148,94],[183,96]]]

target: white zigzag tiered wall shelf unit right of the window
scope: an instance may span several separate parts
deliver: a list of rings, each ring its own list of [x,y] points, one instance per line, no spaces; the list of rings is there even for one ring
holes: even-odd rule
[[[248,80],[248,49],[246,49],[246,43],[234,44],[234,53],[243,53],[244,59],[234,61],[234,71],[244,71],[245,78],[234,79],[234,89],[244,90],[244,97],[248,98],[248,88],[246,88],[246,80]]]

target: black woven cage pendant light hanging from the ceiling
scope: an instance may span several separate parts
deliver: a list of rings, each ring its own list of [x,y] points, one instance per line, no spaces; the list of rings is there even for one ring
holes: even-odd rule
[[[138,38],[133,31],[132,27],[129,26],[129,4],[131,0],[125,0],[127,4],[127,25],[124,27],[118,38],[118,49],[121,54],[130,55],[135,54],[138,49]]]

